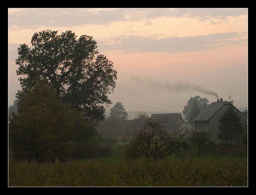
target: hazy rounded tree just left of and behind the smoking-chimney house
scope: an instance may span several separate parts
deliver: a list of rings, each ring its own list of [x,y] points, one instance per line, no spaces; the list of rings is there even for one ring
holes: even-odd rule
[[[200,96],[191,97],[190,100],[188,100],[187,105],[184,106],[184,110],[182,111],[185,120],[191,121],[191,109],[195,106],[195,103],[200,111],[209,105],[207,98],[200,98]]]

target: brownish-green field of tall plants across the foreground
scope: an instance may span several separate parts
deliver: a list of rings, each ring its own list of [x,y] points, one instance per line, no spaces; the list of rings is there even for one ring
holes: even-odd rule
[[[42,163],[9,162],[9,186],[192,187],[248,186],[245,156],[170,157],[158,162],[127,161],[122,147],[112,156]]]

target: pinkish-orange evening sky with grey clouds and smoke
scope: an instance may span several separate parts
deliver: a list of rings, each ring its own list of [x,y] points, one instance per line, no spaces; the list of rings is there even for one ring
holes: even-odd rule
[[[126,111],[177,111],[191,97],[248,106],[248,9],[8,8],[8,106],[20,44],[35,32],[92,36],[117,70],[109,98]]]

